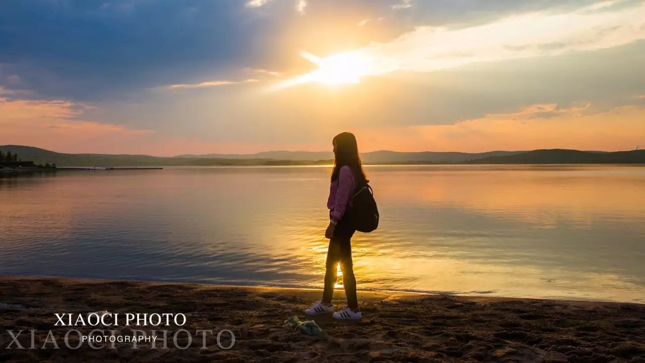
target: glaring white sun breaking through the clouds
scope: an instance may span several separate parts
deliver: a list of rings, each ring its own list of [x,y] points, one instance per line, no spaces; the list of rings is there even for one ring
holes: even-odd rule
[[[323,83],[330,87],[355,85],[361,82],[361,77],[368,74],[370,59],[360,52],[344,52],[328,57],[317,57],[309,52],[301,52],[301,56],[318,66],[307,74],[287,79],[273,87],[274,90],[292,87],[303,83]]]

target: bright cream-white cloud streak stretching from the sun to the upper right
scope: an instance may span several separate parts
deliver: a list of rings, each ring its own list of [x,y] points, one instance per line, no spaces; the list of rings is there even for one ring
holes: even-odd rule
[[[321,57],[321,63],[361,59],[361,67],[352,70],[352,76],[360,78],[396,71],[433,72],[471,63],[559,56],[618,47],[639,39],[645,39],[645,2],[631,7],[591,5],[559,14],[531,12],[462,28],[419,26],[388,43],[371,43]],[[311,76],[314,72],[341,70],[334,67],[315,70],[285,84],[288,87],[312,81],[316,79]]]

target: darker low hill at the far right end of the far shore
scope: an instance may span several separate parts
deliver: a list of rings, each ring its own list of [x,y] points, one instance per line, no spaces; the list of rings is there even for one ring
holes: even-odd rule
[[[533,150],[522,154],[490,156],[465,161],[470,164],[639,164],[645,150],[597,152],[566,149]]]

